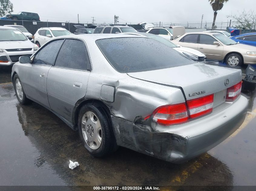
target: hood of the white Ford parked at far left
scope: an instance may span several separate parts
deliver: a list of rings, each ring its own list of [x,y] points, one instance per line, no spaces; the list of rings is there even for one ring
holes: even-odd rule
[[[34,44],[30,40],[26,41],[1,41],[0,49],[22,49],[34,48]]]

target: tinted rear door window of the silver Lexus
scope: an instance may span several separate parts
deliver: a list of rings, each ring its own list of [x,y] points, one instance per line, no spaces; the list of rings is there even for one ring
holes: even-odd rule
[[[86,70],[88,59],[82,41],[66,39],[58,54],[55,66]]]

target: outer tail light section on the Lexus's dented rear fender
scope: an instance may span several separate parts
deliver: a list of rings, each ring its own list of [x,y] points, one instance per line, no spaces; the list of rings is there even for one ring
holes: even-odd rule
[[[188,120],[188,110],[185,103],[158,107],[152,115],[153,121],[166,126],[184,123]]]

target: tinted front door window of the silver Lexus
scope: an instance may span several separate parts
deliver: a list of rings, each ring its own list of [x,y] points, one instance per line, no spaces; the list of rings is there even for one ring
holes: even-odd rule
[[[36,53],[33,63],[52,65],[63,41],[64,40],[55,40],[42,47],[42,49]]]

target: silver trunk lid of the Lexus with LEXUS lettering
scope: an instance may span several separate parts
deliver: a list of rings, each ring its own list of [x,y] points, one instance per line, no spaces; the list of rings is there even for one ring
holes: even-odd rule
[[[158,84],[181,87],[187,100],[225,90],[242,80],[238,69],[194,63],[173,68],[128,73],[129,76]],[[228,79],[229,84],[225,86]],[[196,94],[199,92],[199,94]]]

